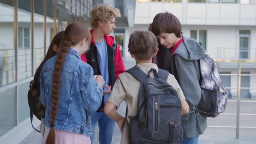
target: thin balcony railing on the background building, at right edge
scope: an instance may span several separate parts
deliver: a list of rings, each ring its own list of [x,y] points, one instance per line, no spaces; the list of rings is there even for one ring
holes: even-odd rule
[[[223,48],[217,47],[217,59],[250,59],[256,60],[256,48],[249,48],[248,50],[239,48]]]

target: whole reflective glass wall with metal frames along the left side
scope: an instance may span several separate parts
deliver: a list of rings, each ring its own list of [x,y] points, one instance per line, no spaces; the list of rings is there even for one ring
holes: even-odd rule
[[[17,126],[30,122],[27,92],[36,68],[56,32],[74,21],[89,26],[91,3],[92,0],[0,0],[0,139],[13,128],[22,131]]]

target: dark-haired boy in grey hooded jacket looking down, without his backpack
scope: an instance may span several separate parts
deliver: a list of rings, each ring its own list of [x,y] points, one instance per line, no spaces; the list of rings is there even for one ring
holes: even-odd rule
[[[171,13],[158,13],[152,23],[152,32],[161,45],[172,49],[171,74],[181,85],[190,108],[189,113],[182,116],[182,144],[198,144],[199,135],[207,128],[207,118],[197,109],[201,98],[199,59],[206,55],[205,51],[195,39],[182,36],[181,23]]]

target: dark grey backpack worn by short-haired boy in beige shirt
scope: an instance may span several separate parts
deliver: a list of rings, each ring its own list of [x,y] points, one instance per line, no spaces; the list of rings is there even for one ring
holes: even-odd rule
[[[181,101],[167,83],[169,72],[151,69],[146,75],[136,66],[126,72],[141,82],[138,115],[129,123],[130,144],[181,144]]]

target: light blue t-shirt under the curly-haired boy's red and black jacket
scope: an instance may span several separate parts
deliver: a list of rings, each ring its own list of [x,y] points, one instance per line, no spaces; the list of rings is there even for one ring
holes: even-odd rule
[[[109,76],[108,76],[108,50],[107,50],[107,43],[105,41],[105,38],[103,38],[102,43],[98,43],[95,41],[95,44],[97,46],[98,51],[98,57],[99,57],[99,68],[102,74],[103,79],[105,80],[105,85],[108,85],[109,83]],[[104,88],[104,90],[107,90]],[[104,96],[104,102],[106,104],[108,100],[109,94]]]

